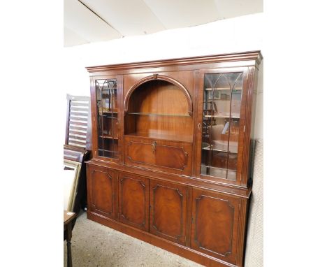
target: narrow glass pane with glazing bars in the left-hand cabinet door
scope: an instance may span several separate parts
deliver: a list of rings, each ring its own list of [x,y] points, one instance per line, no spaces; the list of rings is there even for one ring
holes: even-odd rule
[[[96,80],[98,152],[101,157],[118,158],[117,80]]]

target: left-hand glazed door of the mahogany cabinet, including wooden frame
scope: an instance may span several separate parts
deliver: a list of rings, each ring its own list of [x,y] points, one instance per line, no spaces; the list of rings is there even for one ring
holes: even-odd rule
[[[99,77],[92,82],[93,143],[96,157],[121,161],[122,77]]]

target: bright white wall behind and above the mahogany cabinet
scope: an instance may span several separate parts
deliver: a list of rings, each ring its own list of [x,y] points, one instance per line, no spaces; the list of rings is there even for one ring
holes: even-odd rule
[[[263,52],[263,13],[219,20],[201,26],[131,36],[113,41],[64,48],[64,87],[68,94],[89,95],[86,66],[154,59],[214,55],[228,52]],[[258,92],[262,92],[262,71]],[[259,75],[259,76],[260,76]],[[263,138],[262,94],[258,94],[256,138]],[[63,99],[64,96],[63,96]]]

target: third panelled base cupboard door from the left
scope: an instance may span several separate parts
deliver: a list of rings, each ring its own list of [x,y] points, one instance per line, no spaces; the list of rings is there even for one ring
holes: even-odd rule
[[[186,244],[187,187],[150,180],[150,233]]]

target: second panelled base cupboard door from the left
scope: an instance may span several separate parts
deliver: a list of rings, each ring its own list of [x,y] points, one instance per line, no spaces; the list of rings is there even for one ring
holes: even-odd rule
[[[149,180],[118,173],[119,222],[149,231]]]

